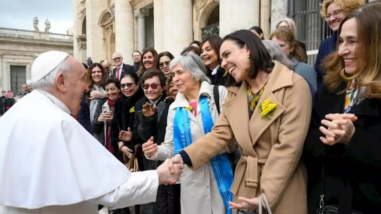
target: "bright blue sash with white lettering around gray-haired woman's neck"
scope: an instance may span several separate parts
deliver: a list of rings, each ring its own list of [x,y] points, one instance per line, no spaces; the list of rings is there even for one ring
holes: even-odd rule
[[[210,133],[213,124],[213,119],[208,105],[208,97],[201,96],[200,112],[202,117],[202,125],[204,133]],[[176,109],[173,118],[173,146],[174,154],[178,154],[182,149],[192,144],[191,122],[189,113],[184,107]],[[226,154],[216,155],[210,160],[210,165],[213,169],[213,174],[216,178],[219,193],[224,201],[226,213],[231,214],[232,210],[228,209],[228,201],[232,200],[230,187],[233,183],[233,170]]]

